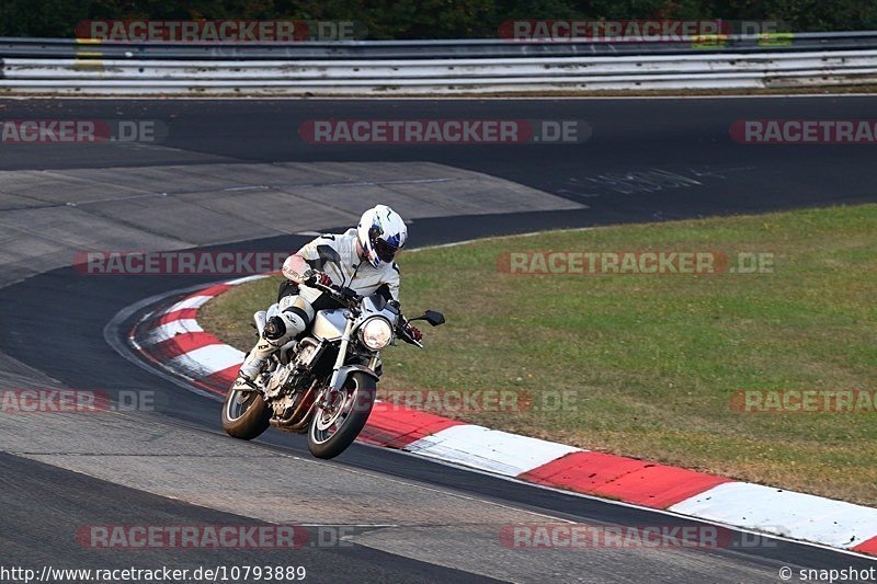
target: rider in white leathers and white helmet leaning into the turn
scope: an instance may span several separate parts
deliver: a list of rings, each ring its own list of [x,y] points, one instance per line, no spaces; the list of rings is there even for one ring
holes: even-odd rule
[[[405,247],[408,228],[402,218],[386,205],[366,210],[360,224],[341,234],[323,234],[314,239],[283,263],[278,299],[280,316],[265,322],[262,335],[240,367],[236,387],[253,387],[262,364],[284,344],[310,327],[317,310],[332,308],[333,300],[316,283],[330,286],[338,283],[362,296],[379,293],[387,300],[399,300],[399,266],[392,261]],[[341,256],[340,265],[324,261],[321,247]],[[415,341],[420,331],[406,324]]]

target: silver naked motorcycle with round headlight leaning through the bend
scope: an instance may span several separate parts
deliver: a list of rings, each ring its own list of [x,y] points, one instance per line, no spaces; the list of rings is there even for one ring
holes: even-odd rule
[[[329,261],[340,261],[328,250]],[[252,387],[232,387],[223,404],[223,427],[236,438],[250,440],[270,426],[296,434],[307,433],[308,449],[317,458],[334,458],[362,432],[377,394],[381,375],[380,351],[397,339],[423,348],[406,329],[425,320],[432,327],[444,316],[426,310],[408,319],[399,304],[380,294],[360,296],[340,286],[320,289],[338,305],[318,310],[308,331],[274,352]],[[277,305],[253,314],[262,334]]]

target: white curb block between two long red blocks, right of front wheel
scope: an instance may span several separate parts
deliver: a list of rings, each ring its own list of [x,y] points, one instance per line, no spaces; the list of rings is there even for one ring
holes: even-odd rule
[[[406,446],[406,450],[505,477],[516,477],[580,448],[483,426],[451,426]]]

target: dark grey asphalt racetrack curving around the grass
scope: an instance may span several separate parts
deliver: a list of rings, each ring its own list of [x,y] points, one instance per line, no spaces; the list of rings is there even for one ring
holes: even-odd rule
[[[728,128],[745,118],[868,118],[875,105],[869,96],[0,101],[8,119],[148,118],[169,130],[160,145],[0,146],[2,387],[150,391],[157,403],[149,413],[0,416],[2,563],[297,564],[308,569],[308,580],[386,582],[777,582],[783,565],[874,565],[779,539],[714,550],[505,549],[499,531],[510,524],[693,522],[363,445],[317,462],[299,436],[271,432],[253,444],[231,440],[219,428],[215,401],[126,360],[104,340],[104,328],[124,308],[217,278],[87,277],[67,266],[73,252],[95,249],[294,250],[309,239],[297,232],[346,226],[354,211],[384,195],[433,209],[412,224],[415,247],[556,227],[874,202],[875,147],[744,146],[729,138]],[[593,136],[558,146],[314,146],[299,139],[304,121],[331,117],[584,119]],[[409,168],[435,174],[394,182],[394,173]],[[287,201],[271,180],[289,169],[301,183]],[[195,175],[202,191],[193,194],[185,182]],[[205,176],[215,182],[208,190]],[[503,180],[505,196],[522,197],[514,211],[491,207],[492,179]],[[467,196],[480,193],[483,205],[460,215],[467,207],[455,207],[454,184],[475,193]],[[137,192],[119,195],[126,187]],[[333,199],[338,188],[351,198]],[[447,199],[431,199],[431,188]],[[236,198],[240,206],[210,206],[212,193],[229,192],[246,197]],[[300,209],[286,208],[293,199]],[[283,213],[300,225],[284,226]],[[239,230],[217,227],[229,216]],[[292,553],[132,551],[89,549],[75,537],[88,525],[260,522],[346,525],[353,545]]]

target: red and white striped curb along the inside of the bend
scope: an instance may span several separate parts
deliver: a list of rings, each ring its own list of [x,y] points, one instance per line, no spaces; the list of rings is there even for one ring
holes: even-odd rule
[[[135,325],[129,341],[175,376],[225,396],[243,353],[205,332],[197,311],[215,296],[260,277],[266,276],[209,286],[152,312]],[[593,453],[380,402],[360,440],[526,482],[877,556],[877,509],[862,505]]]

